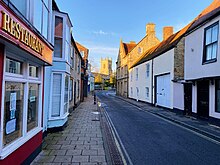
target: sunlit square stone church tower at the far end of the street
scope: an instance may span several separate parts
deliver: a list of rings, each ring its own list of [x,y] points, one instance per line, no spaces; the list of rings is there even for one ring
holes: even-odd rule
[[[111,75],[112,74],[112,59],[111,58],[101,58],[101,74]]]

